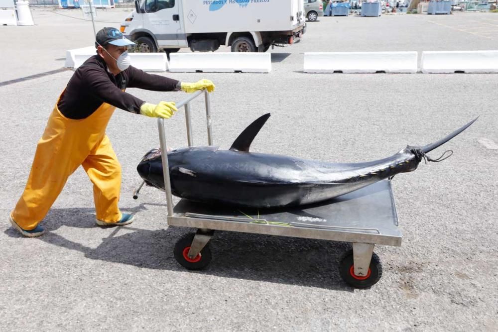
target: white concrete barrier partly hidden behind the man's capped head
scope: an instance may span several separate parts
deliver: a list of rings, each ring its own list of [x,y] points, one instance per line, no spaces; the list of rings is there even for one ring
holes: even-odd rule
[[[77,48],[66,52],[65,67],[78,68],[88,58],[95,55],[94,46]],[[129,53],[131,65],[145,72],[165,72],[168,68],[166,53]]]

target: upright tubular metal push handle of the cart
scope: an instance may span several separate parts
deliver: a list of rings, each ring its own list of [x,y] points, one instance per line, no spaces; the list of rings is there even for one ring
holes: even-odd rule
[[[183,101],[176,104],[176,108],[185,108],[185,122],[187,126],[187,141],[188,146],[192,146],[192,123],[190,118],[190,102],[204,93],[204,103],[206,105],[206,123],[208,129],[208,144],[213,145],[213,136],[211,130],[211,99],[209,93],[206,89],[198,90],[194,92],[191,96],[184,99]],[[162,160],[162,173],[164,176],[164,192],[166,193],[166,203],[168,208],[168,217],[173,216],[173,197],[171,194],[171,179],[169,177],[169,163],[168,163],[168,153],[166,152],[168,146],[166,144],[166,133],[164,130],[164,119],[157,119],[157,126],[159,129],[159,143],[161,145],[161,160]]]

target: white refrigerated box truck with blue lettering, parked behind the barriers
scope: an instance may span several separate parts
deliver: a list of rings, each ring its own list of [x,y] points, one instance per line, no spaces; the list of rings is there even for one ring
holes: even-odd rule
[[[266,52],[300,41],[304,0],[135,0],[121,32],[138,52]]]

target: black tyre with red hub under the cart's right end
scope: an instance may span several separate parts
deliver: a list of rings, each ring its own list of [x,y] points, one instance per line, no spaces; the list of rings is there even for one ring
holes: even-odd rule
[[[355,275],[353,265],[353,250],[350,250],[339,263],[339,273],[346,283],[355,288],[369,288],[375,285],[382,276],[382,264],[377,254],[372,253],[369,272],[365,277]]]

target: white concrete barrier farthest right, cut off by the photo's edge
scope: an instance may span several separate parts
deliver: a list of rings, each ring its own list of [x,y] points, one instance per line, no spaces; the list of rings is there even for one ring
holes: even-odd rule
[[[422,73],[498,73],[498,51],[422,52]]]

